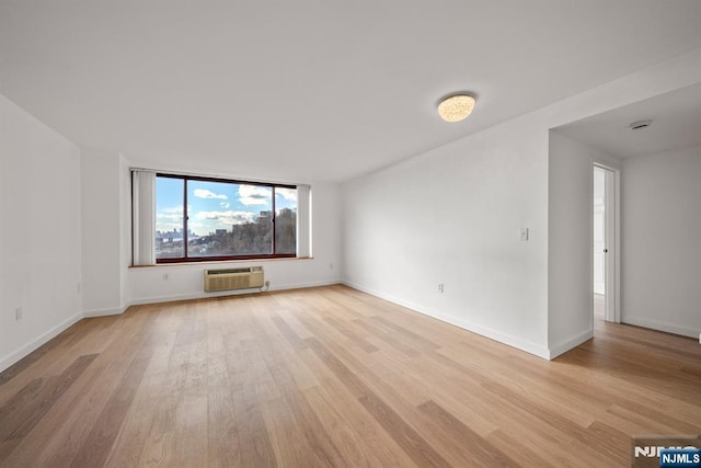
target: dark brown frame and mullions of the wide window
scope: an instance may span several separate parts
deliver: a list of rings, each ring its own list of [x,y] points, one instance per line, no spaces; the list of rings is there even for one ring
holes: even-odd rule
[[[275,195],[276,189],[292,189],[297,190],[297,185],[290,184],[280,184],[280,183],[272,183],[272,182],[255,182],[255,181],[242,181],[237,179],[222,179],[222,178],[214,178],[214,176],[205,176],[205,175],[185,175],[185,174],[173,174],[168,172],[156,172],[156,178],[170,178],[170,179],[180,179],[183,181],[183,256],[175,258],[165,258],[159,259],[156,258],[156,264],[172,264],[172,263],[202,263],[202,262],[222,262],[222,261],[235,261],[235,260],[272,260],[272,259],[295,259],[297,258],[297,246],[295,246],[294,253],[275,253],[277,250],[277,239],[276,239],[276,222],[275,218],[277,214],[275,213]],[[228,184],[239,184],[239,185],[256,185],[256,186],[265,186],[271,189],[272,193],[272,207],[271,207],[271,226],[272,226],[272,241],[273,241],[273,253],[269,254],[245,254],[245,255],[206,255],[206,256],[188,256],[187,254],[187,221],[188,221],[188,213],[187,213],[187,181],[198,181],[198,182],[217,182],[217,183],[228,183]],[[295,236],[298,236],[297,227],[295,228]]]

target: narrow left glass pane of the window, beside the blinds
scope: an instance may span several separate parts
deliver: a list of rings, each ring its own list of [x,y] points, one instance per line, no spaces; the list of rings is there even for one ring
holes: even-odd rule
[[[156,178],[156,258],[184,256],[182,179]]]

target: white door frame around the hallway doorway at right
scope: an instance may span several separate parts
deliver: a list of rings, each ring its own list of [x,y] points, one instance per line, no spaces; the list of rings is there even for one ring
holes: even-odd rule
[[[605,312],[606,321],[621,322],[621,170],[609,163],[593,161],[591,164],[591,201],[594,201],[594,169],[598,168],[605,172],[605,243],[608,250],[605,255]],[[591,229],[589,230],[589,259],[591,270],[589,275],[591,297],[594,298],[594,209],[590,210]],[[591,304],[594,313],[594,299]]]

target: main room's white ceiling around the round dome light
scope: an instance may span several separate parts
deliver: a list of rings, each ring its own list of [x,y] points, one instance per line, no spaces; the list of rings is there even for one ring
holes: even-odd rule
[[[0,0],[0,93],[140,165],[343,181],[701,47],[698,0]],[[478,96],[441,122],[438,99]]]

